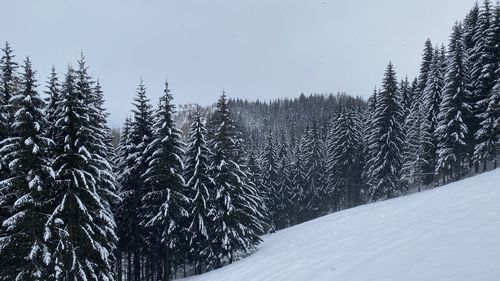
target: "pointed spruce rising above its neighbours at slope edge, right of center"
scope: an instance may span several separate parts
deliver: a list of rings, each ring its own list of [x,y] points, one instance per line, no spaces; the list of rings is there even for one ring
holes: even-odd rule
[[[391,198],[405,190],[401,180],[405,136],[401,124],[402,108],[398,99],[396,73],[392,63],[386,68],[382,91],[378,95],[372,146],[376,153],[371,163],[369,193],[372,200]],[[372,144],[373,145],[373,144]]]

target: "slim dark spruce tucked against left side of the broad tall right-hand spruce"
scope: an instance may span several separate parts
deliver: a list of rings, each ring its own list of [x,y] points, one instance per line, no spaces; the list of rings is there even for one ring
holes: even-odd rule
[[[437,116],[441,104],[441,92],[444,86],[444,73],[441,72],[441,60],[439,50],[434,50],[432,64],[422,95],[422,115],[420,123],[421,131],[421,158],[422,184],[428,185],[435,180],[437,139],[434,131],[437,128]]]

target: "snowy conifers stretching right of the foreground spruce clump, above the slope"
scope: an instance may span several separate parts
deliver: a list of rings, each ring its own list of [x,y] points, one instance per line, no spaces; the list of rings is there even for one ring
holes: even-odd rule
[[[367,103],[342,94],[233,101],[271,226],[496,168],[499,48],[500,6],[486,0],[447,47],[425,42],[418,77],[398,80],[389,63]]]

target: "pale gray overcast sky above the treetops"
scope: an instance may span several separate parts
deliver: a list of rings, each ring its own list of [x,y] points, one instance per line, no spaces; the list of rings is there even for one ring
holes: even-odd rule
[[[83,50],[101,79],[113,126],[142,77],[156,104],[168,78],[175,103],[268,100],[343,91],[369,95],[392,60],[414,77],[424,42],[447,43],[474,0],[2,0],[0,40],[38,80]],[[42,83],[43,82],[43,83]]]

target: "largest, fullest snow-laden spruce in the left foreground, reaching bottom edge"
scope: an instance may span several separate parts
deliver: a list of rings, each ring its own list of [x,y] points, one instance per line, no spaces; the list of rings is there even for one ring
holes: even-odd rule
[[[102,191],[102,139],[84,65],[68,68],[56,114],[54,210],[47,222],[57,280],[113,280],[115,222]],[[104,171],[105,172],[105,171]]]

